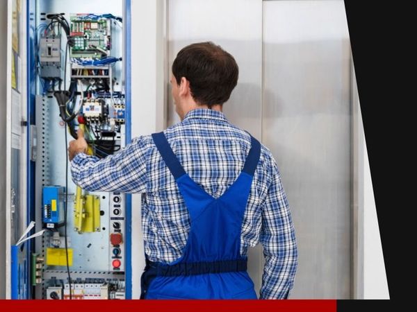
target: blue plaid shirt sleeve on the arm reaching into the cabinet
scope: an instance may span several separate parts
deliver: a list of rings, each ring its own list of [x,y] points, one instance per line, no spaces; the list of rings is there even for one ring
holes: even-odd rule
[[[147,182],[147,150],[149,140],[138,137],[103,159],[79,153],[71,161],[72,181],[86,191],[142,193]]]

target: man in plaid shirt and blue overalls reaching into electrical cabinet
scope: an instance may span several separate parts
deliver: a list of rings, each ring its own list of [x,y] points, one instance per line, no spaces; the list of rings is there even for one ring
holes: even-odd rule
[[[70,142],[83,189],[143,193],[142,298],[256,299],[247,249],[259,242],[261,298],[286,298],[293,287],[297,248],[275,159],[222,113],[237,81],[233,56],[191,44],[172,64],[180,123],[101,160],[85,155],[82,132]]]

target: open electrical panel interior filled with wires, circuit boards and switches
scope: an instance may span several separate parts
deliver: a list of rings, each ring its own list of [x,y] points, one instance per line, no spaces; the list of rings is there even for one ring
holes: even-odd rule
[[[126,198],[76,186],[67,159],[79,129],[88,154],[99,159],[125,145],[122,1],[106,3],[114,10],[104,14],[96,6],[77,12],[81,1],[72,2],[38,1],[33,160],[35,220],[45,232],[31,257],[32,296],[124,299]]]

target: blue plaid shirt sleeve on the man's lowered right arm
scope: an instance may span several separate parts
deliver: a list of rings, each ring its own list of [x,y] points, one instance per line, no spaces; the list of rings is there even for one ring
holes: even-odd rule
[[[297,269],[297,245],[277,163],[272,158],[272,182],[263,202],[260,241],[263,245],[261,299],[286,299]]]

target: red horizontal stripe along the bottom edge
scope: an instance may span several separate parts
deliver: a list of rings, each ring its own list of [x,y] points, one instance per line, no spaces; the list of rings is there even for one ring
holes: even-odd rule
[[[0,308],[31,312],[47,309],[59,309],[60,312],[74,312],[76,309],[100,312],[163,309],[165,312],[336,312],[336,300],[0,300]]]

